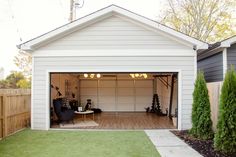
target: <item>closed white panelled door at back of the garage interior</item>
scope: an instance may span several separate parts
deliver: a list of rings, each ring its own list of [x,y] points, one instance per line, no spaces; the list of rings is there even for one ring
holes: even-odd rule
[[[103,111],[145,111],[153,96],[153,80],[133,80],[111,77],[80,81],[81,101],[92,99]]]

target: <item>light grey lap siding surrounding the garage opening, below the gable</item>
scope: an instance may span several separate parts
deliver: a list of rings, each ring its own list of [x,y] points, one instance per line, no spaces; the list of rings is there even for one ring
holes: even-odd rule
[[[182,129],[191,126],[194,57],[34,57],[33,122],[35,129],[46,128],[47,71],[165,71],[182,73]],[[102,100],[101,100],[102,101]]]

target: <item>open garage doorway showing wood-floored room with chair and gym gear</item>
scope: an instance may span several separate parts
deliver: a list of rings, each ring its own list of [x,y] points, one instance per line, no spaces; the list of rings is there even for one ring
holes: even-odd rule
[[[51,128],[177,128],[175,72],[50,73],[50,87]]]

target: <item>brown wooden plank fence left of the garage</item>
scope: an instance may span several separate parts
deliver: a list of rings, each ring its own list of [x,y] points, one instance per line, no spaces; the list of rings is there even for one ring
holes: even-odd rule
[[[0,139],[30,124],[30,89],[0,89]]]

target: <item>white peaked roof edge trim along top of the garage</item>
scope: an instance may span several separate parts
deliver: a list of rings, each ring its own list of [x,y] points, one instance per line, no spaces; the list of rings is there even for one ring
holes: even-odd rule
[[[110,5],[108,7],[102,8],[96,12],[93,12],[93,13],[86,15],[82,18],[79,18],[73,22],[67,23],[61,27],[51,30],[45,34],[38,36],[38,37],[35,37],[35,38],[33,38],[29,41],[26,41],[20,45],[17,45],[17,47],[19,49],[22,49],[25,51],[33,51],[36,49],[36,46],[38,46],[38,45],[43,46],[50,41],[53,41],[55,39],[59,39],[60,37],[70,34],[71,32],[75,31],[78,28],[84,28],[90,24],[95,23],[96,21],[99,21],[101,19],[105,19],[105,18],[110,17],[112,15],[117,15],[117,14],[127,17],[127,18],[130,18],[134,21],[140,22],[140,23],[145,24],[147,26],[150,26],[150,27],[156,29],[157,31],[161,31],[163,33],[166,33],[167,35],[170,35],[170,36],[178,39],[178,40],[181,40],[182,42],[185,42],[187,44],[191,44],[193,46],[193,48],[196,50],[208,48],[208,44],[203,41],[200,41],[200,40],[190,37],[186,34],[178,32],[170,27],[167,27],[167,26],[160,24],[154,20],[151,20],[149,18],[146,18],[146,17],[136,14],[134,12],[131,12],[131,11],[124,9],[122,7],[119,7],[117,5]]]

